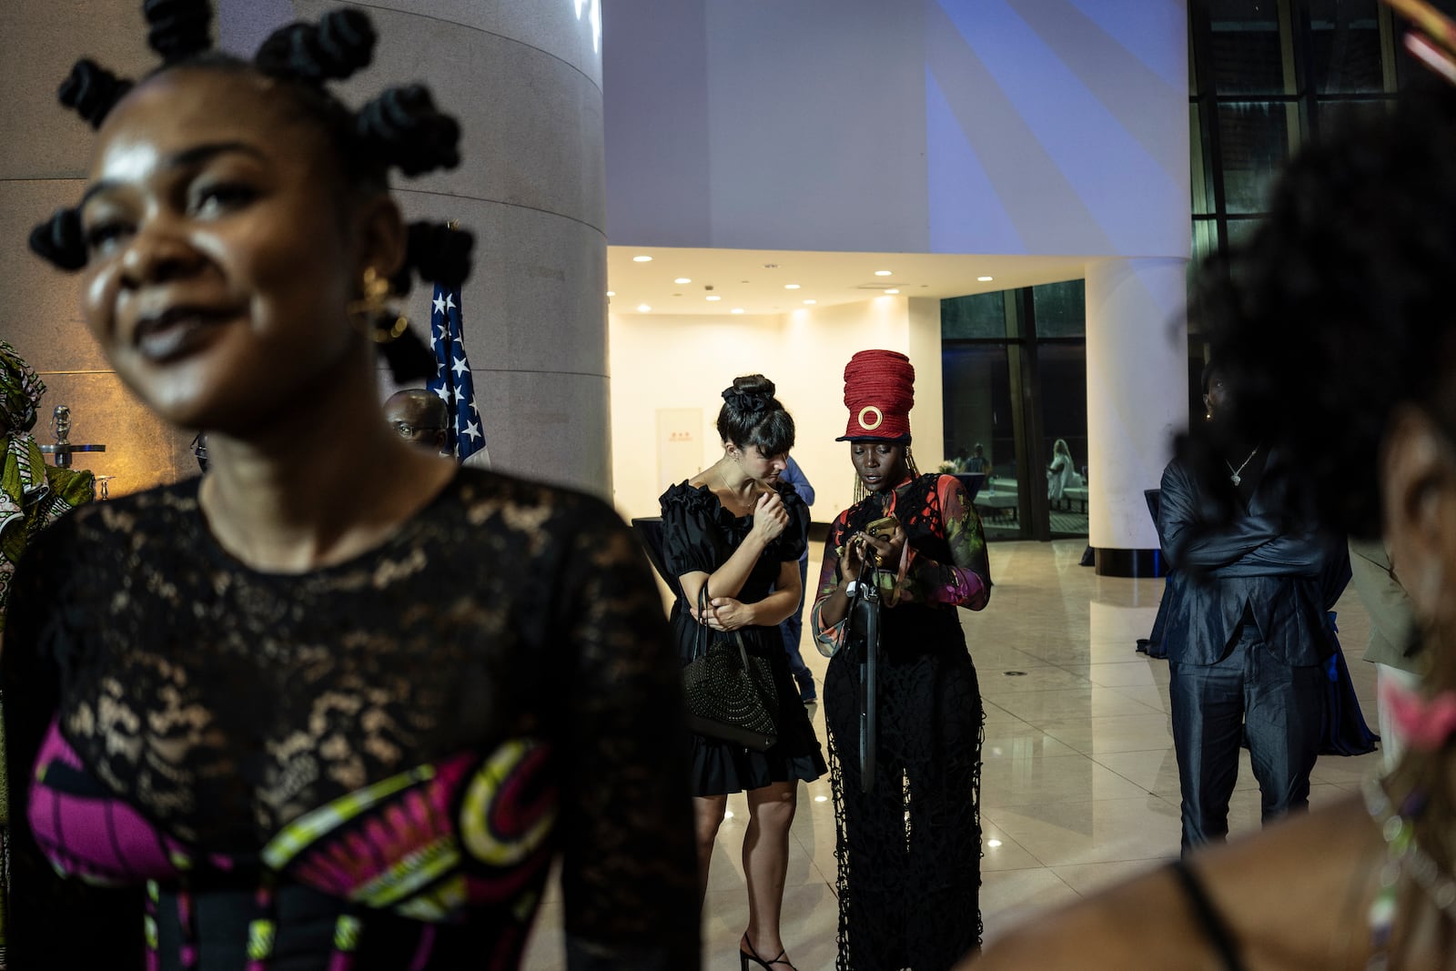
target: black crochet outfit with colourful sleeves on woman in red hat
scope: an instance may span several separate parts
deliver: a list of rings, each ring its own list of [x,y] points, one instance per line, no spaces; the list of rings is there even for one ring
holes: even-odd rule
[[[958,607],[980,610],[990,566],[980,518],[954,476],[907,479],[830,527],[818,600],[840,579],[837,550],[882,515],[904,526],[903,579],[881,609],[874,786],[860,786],[860,648],[824,675],[839,863],[839,971],[948,971],[980,943],[981,738],[986,719]],[[814,610],[815,630],[820,604]],[[843,639],[843,625],[823,638]]]

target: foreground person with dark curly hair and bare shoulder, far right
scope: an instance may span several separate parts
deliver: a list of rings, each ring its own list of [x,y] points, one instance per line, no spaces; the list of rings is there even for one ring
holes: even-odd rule
[[[1230,427],[1286,454],[1325,527],[1383,536],[1409,594],[1420,687],[1382,699],[1405,753],[1360,793],[1038,914],[964,968],[1456,968],[1456,92],[1405,92],[1313,143],[1226,259],[1191,306]]]

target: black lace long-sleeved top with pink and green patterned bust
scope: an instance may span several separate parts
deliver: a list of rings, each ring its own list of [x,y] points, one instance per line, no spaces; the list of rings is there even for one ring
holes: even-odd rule
[[[68,517],[16,575],[16,967],[84,948],[66,929],[118,908],[38,849],[89,884],[160,885],[146,946],[160,926],[182,955],[162,946],[162,967],[230,952],[210,940],[227,922],[198,914],[234,898],[237,952],[264,922],[278,967],[323,968],[341,939],[360,970],[515,967],[558,850],[574,968],[697,967],[678,665],[607,507],[463,470],[376,550],[274,575],[215,543],[197,492]],[[67,828],[96,808],[106,847]],[[349,933],[314,955],[284,897],[253,892],[275,885],[335,900]],[[127,920],[140,955],[140,905]],[[438,959],[409,965],[425,939]]]

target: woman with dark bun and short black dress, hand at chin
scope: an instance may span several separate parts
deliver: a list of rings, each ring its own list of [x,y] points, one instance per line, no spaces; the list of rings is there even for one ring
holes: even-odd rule
[[[773,381],[761,374],[734,380],[724,392],[718,434],[724,457],[661,498],[667,568],[684,594],[673,604],[673,633],[684,665],[702,636],[700,625],[740,633],[750,655],[769,661],[778,744],[757,753],[693,735],[699,891],[708,887],[728,793],[747,792],[743,869],[748,929],[740,942],[741,964],[745,970],[751,961],[769,971],[789,971],[779,938],[789,824],[799,780],[826,772],[778,630],[798,609],[798,559],[807,542],[808,510],[792,486],[779,482],[794,447],[794,419],[773,396]],[[699,616],[695,604],[703,584],[708,610]]]

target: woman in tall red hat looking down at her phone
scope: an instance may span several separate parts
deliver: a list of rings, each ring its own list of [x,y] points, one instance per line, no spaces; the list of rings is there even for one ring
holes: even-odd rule
[[[990,600],[986,539],[960,480],[914,466],[906,355],[850,358],[844,405],[839,441],[850,443],[856,501],[830,527],[812,614],[830,655],[823,697],[837,821],[836,968],[945,971],[981,930],[984,712],[957,607],[981,610]],[[860,584],[881,604],[868,758],[865,645],[846,623]]]

